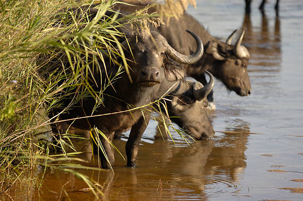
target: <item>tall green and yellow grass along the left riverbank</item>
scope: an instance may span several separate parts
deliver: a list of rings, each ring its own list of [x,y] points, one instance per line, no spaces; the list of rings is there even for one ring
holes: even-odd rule
[[[53,136],[56,143],[49,140],[53,135],[50,123],[59,119],[58,115],[49,119],[47,114],[54,107],[62,107],[61,100],[75,91],[77,96],[68,107],[62,107],[62,112],[87,96],[96,98],[96,107],[102,103],[102,93],[95,92],[88,82],[89,75],[92,75],[89,66],[93,63],[98,67],[97,60],[103,60],[96,48],[105,54],[121,56],[121,69],[128,71],[117,40],[124,35],[117,28],[125,26],[121,22],[126,18],[128,23],[142,20],[144,12],[123,18],[113,15],[109,20],[101,21],[115,3],[116,0],[101,0],[97,16],[88,20],[86,11],[79,7],[83,4],[90,6],[91,1],[0,1],[0,170],[3,180],[12,178],[10,182],[13,182],[24,169],[32,169],[38,164],[58,168],[56,161],[81,161],[72,144],[72,138],[78,136],[65,132]],[[80,15],[77,18],[72,15],[72,7],[78,8]],[[113,48],[113,43],[117,49]],[[67,62],[72,71],[62,68],[50,73],[55,69],[50,65],[50,59],[56,59],[59,66],[65,66],[64,62]],[[116,62],[115,56],[112,59]],[[117,77],[110,77],[102,90]],[[95,131],[95,134],[99,132]],[[50,150],[58,147],[63,152],[51,155]],[[74,151],[68,152],[66,148]],[[93,193],[96,196],[98,191],[101,193],[94,185],[97,182],[77,173],[73,170],[75,168],[83,166],[70,162],[63,167],[60,164],[61,170],[74,173],[89,187],[95,188]]]

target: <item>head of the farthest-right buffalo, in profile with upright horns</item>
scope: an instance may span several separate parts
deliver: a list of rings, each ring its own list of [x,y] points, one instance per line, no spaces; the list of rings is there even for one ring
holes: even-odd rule
[[[226,43],[221,43],[218,40],[210,41],[206,53],[211,54],[214,59],[212,65],[216,69],[211,70],[210,68],[211,73],[219,78],[229,90],[235,91],[240,96],[249,96],[252,91],[247,71],[250,53],[241,45],[244,30],[236,44],[231,45],[232,37],[236,31],[228,37]]]

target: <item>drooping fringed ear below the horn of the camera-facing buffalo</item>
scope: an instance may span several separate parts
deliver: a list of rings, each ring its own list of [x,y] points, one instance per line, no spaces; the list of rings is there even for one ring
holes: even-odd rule
[[[185,69],[173,63],[164,64],[164,73],[168,81],[182,80],[185,77]]]

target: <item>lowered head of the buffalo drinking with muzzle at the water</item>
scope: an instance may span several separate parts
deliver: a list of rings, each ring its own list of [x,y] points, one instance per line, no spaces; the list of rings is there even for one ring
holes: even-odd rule
[[[171,98],[171,106],[168,108],[168,113],[172,121],[177,123],[183,130],[186,131],[196,140],[204,140],[212,138],[214,131],[211,122],[206,113],[208,101],[207,95],[212,90],[214,84],[213,76],[206,71],[209,75],[209,82],[203,86],[198,81],[187,80],[192,86],[192,95],[181,95]]]

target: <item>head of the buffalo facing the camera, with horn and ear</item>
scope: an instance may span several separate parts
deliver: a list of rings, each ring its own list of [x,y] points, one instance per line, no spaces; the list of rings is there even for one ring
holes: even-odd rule
[[[131,76],[139,87],[152,87],[164,78],[168,81],[183,79],[183,68],[166,69],[164,62],[168,57],[173,60],[192,64],[197,62],[203,54],[202,40],[193,32],[190,33],[197,42],[197,50],[191,55],[183,55],[168,45],[166,39],[159,33],[152,31],[151,35],[135,34],[128,38],[131,51],[125,52],[125,57],[134,60],[130,64]],[[122,42],[127,47],[127,42]],[[127,48],[128,49],[128,48]],[[133,59],[132,59],[133,58]]]

